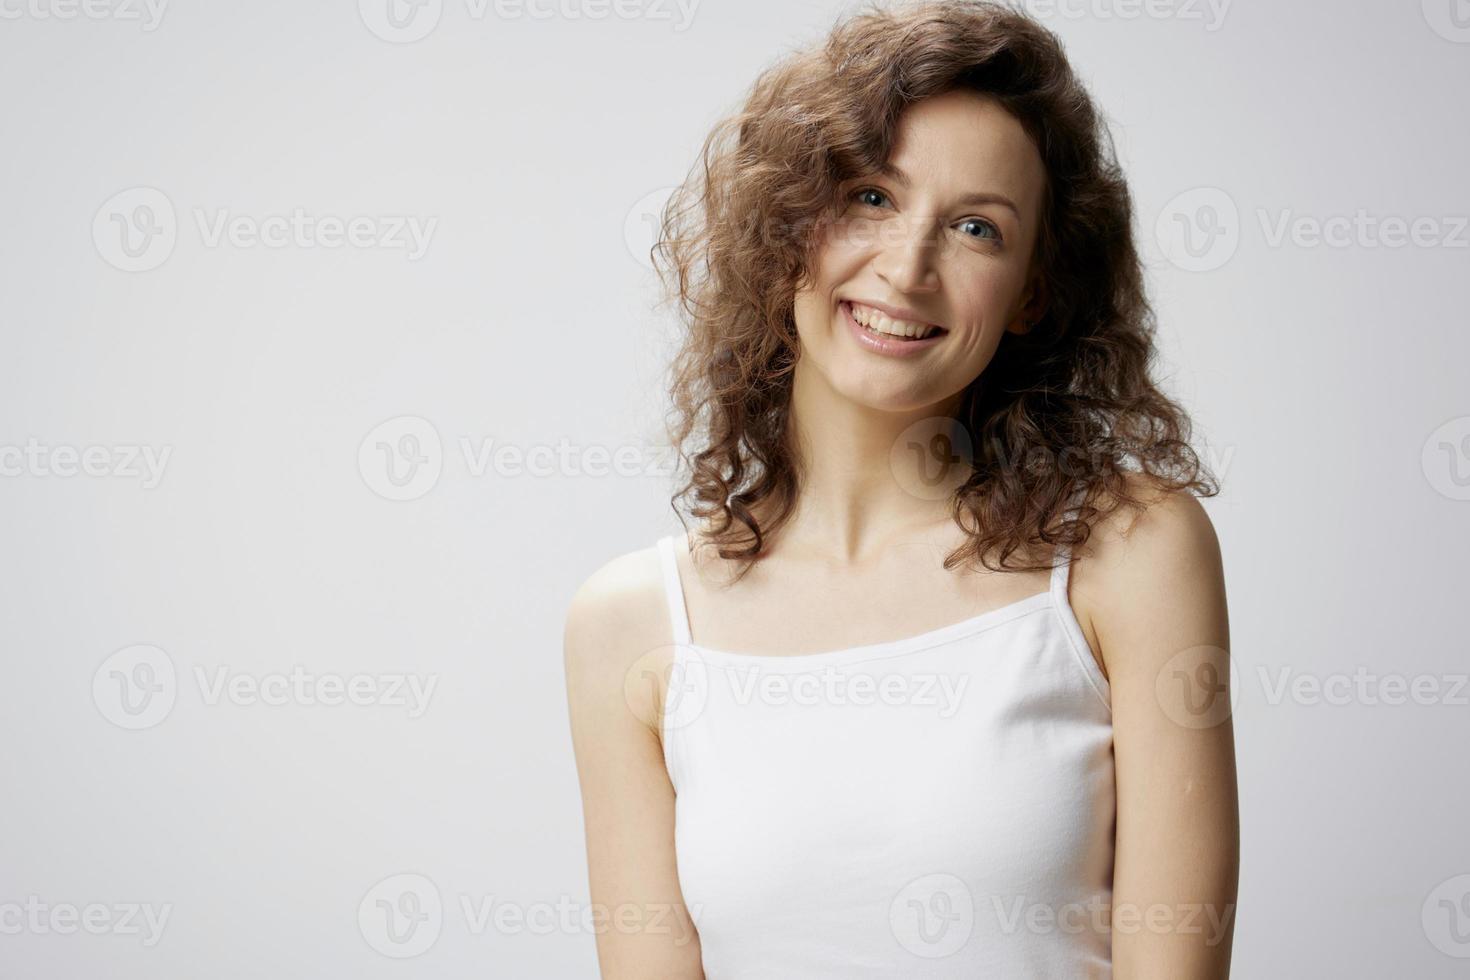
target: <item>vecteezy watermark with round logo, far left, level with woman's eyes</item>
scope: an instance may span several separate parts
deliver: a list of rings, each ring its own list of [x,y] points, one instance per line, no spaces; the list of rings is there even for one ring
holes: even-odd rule
[[[304,207],[287,213],[250,215],[228,207],[190,210],[204,248],[354,248],[403,251],[422,259],[440,219],[417,215],[313,215]],[[154,187],[132,187],[103,201],[93,216],[93,244],[107,264],[123,272],[157,269],[178,244],[173,201]]]

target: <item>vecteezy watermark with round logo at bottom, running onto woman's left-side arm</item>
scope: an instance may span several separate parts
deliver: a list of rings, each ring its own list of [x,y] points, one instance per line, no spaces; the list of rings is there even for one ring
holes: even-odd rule
[[[581,902],[567,895],[551,901],[519,902],[495,895],[462,893],[453,905],[470,936],[669,936],[676,946],[695,937],[701,905],[672,902],[607,905]],[[382,879],[357,904],[357,929],[375,951],[394,959],[426,952],[448,918],[438,884],[425,874],[403,873]]]

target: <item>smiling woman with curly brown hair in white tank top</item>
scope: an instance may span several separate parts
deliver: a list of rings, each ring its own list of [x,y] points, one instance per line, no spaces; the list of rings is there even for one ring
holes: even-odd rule
[[[566,624],[603,977],[1227,976],[1217,489],[1057,40],[870,7],[703,157],[694,526]]]

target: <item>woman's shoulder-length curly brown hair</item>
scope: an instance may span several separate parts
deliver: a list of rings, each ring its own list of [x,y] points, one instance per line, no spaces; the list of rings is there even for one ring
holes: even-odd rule
[[[1047,304],[964,391],[956,425],[973,473],[951,502],[969,539],[945,567],[1048,567],[1032,555],[1079,547],[1101,516],[1142,504],[1130,470],[1160,489],[1219,494],[1188,416],[1150,376],[1155,322],[1132,200],[1061,43],[998,3],[867,3],[825,44],[766,69],[716,123],[651,250],[664,301],[678,300],[688,328],[670,369],[669,433],[685,476],[670,504],[700,519],[741,574],[767,552],[801,483],[788,438],[792,309],[836,188],[882,167],[907,106],[953,88],[995,98],[1045,163],[1032,262]],[[1032,560],[1008,564],[1017,552]]]

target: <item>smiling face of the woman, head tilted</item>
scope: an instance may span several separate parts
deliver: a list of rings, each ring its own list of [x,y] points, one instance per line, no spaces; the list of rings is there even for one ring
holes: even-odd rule
[[[1041,313],[1030,256],[1045,165],[1014,116],[969,90],[910,106],[888,163],[838,185],[836,222],[795,295],[797,383],[814,372],[872,408],[932,410]]]

